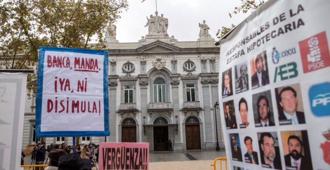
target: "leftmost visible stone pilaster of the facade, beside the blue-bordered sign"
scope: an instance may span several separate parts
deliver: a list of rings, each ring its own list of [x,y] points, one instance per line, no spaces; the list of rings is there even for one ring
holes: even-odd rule
[[[116,91],[117,91],[117,78],[118,75],[112,75],[109,77],[109,129],[110,129],[110,136],[109,141],[116,142],[115,136],[116,136]],[[106,140],[108,141],[108,140]]]

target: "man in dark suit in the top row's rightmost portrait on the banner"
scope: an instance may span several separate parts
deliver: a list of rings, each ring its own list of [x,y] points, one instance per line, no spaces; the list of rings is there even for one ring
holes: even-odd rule
[[[264,60],[261,56],[261,53],[263,54]],[[261,53],[257,54],[255,57],[255,72],[251,77],[252,89],[269,84],[268,70],[267,68],[264,68],[263,65],[263,62],[267,62],[266,51],[263,51]]]

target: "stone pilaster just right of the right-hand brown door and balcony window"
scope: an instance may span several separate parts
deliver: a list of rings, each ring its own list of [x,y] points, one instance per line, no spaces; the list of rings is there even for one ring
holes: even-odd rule
[[[210,108],[210,96],[209,96],[209,79],[208,77],[202,77],[200,80],[202,85],[202,95],[204,102],[204,123],[205,123],[205,138],[204,138],[204,149],[209,147],[208,145],[213,145],[213,137],[212,137],[212,118],[211,118],[211,108]]]

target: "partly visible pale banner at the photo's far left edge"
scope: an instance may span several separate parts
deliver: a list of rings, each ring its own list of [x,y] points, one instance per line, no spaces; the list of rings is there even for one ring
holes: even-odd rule
[[[20,168],[25,96],[25,73],[0,72],[0,169]]]

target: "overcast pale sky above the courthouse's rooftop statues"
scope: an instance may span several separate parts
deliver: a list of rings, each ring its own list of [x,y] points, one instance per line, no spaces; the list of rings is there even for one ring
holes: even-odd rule
[[[127,0],[128,10],[123,11],[116,23],[116,39],[119,42],[137,42],[141,36],[148,33],[144,27],[146,16],[154,15],[156,11],[155,0]],[[221,26],[229,27],[231,23],[237,25],[248,14],[236,14],[232,18],[228,12],[232,12],[240,0],[157,0],[157,11],[160,16],[168,18],[168,35],[174,35],[178,41],[196,41],[198,38],[198,22],[203,20],[209,26],[209,34],[215,36]]]

